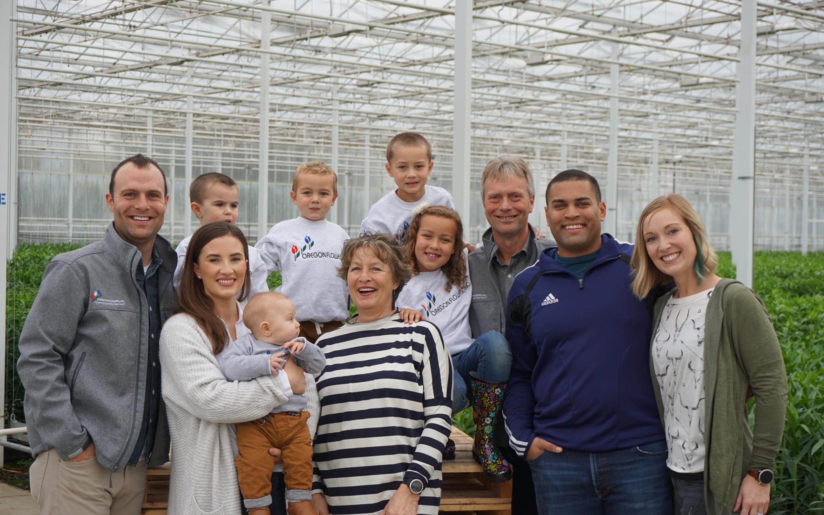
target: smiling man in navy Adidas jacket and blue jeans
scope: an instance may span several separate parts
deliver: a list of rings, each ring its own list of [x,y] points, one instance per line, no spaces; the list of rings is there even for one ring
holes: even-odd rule
[[[541,513],[670,515],[652,317],[630,287],[633,246],[601,234],[606,204],[583,171],[555,176],[546,204],[558,248],[518,275],[507,302],[510,446],[530,462]]]

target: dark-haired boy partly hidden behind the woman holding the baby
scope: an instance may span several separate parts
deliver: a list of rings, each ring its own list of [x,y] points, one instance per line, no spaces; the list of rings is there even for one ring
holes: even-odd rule
[[[224,222],[234,225],[237,222],[237,206],[240,204],[240,191],[232,177],[218,172],[205,173],[197,176],[189,185],[190,208],[200,220],[200,225],[207,223]],[[186,249],[192,236],[186,236],[177,244],[177,268],[172,279],[175,289],[180,285],[180,273],[183,272]],[[253,246],[249,246],[249,274],[251,276],[249,296],[255,293],[269,291],[266,284],[268,272],[260,253]]]

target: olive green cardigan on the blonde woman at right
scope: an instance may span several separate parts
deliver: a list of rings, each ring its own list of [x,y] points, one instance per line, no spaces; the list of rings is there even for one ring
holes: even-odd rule
[[[658,299],[653,339],[661,312],[677,288]],[[715,286],[704,330],[704,494],[709,515],[733,513],[747,471],[775,470],[784,437],[787,376],[770,315],[755,292],[734,279]],[[649,372],[655,378],[652,353]],[[756,398],[755,434],[747,414],[747,386]],[[661,390],[654,388],[664,419]]]

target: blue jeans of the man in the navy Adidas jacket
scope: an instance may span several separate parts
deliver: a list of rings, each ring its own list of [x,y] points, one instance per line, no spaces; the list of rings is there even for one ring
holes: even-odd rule
[[[529,466],[541,515],[672,515],[665,440],[611,452],[542,452]]]

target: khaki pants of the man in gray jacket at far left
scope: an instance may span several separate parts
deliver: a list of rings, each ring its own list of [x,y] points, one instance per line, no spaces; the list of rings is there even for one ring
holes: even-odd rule
[[[138,515],[146,490],[146,461],[112,474],[95,458],[63,461],[49,449],[31,464],[29,480],[40,515]]]

